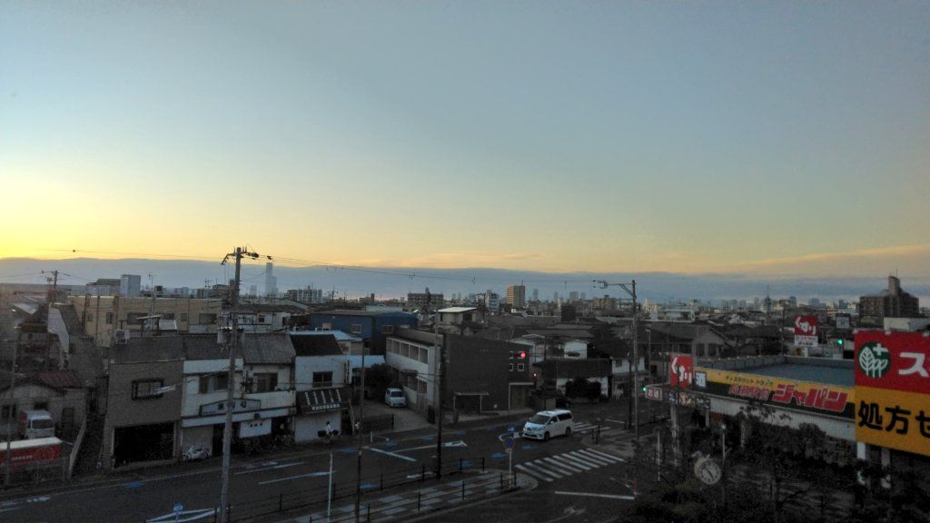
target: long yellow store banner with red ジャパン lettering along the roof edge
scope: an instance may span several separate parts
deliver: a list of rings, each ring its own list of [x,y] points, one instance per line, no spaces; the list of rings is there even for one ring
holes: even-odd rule
[[[856,417],[856,391],[852,387],[721,369],[698,368],[695,376],[697,390],[713,396],[756,401],[772,407],[817,412],[850,420]]]

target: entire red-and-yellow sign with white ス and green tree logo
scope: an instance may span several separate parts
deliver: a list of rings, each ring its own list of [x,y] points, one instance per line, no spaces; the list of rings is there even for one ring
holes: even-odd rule
[[[930,456],[930,338],[856,334],[856,439]]]

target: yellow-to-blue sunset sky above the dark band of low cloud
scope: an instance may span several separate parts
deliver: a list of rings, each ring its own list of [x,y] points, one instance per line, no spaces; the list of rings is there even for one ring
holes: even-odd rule
[[[924,2],[4,2],[0,258],[928,276],[928,27]]]

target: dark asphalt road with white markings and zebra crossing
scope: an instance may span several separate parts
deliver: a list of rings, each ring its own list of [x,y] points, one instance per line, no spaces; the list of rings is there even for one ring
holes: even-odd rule
[[[621,427],[626,409],[621,409],[618,403],[609,403],[578,406],[573,410],[576,412],[577,434],[568,438],[554,438],[546,443],[518,440],[515,445],[513,465],[518,471],[536,477],[538,489],[476,505],[475,510],[485,510],[481,507],[486,507],[500,516],[501,511],[507,510],[508,506],[522,506],[522,511],[514,509],[516,512],[512,518],[501,520],[528,520],[520,517],[526,517],[529,512],[538,512],[547,517],[534,518],[534,521],[555,521],[560,519],[552,517],[591,515],[597,512],[596,506],[609,507],[612,505],[610,502],[623,501],[564,492],[629,495],[630,490],[622,481],[626,474],[624,463],[610,459],[609,455],[597,453],[604,452],[603,449],[597,452],[590,449],[590,432],[596,420],[600,420],[606,433],[616,436],[624,432]],[[506,470],[508,459],[502,438],[510,425],[520,427],[522,422],[522,419],[508,421],[492,417],[481,422],[460,423],[458,427],[444,430],[444,468],[464,463],[466,468],[478,468],[484,464],[487,468]],[[374,440],[365,441],[362,451],[363,489],[379,490],[382,475],[387,476],[390,482],[392,477],[415,475],[422,470],[431,471],[436,462],[435,437],[434,429],[425,429],[375,436]],[[251,507],[259,505],[273,506],[275,498],[279,496],[295,501],[299,498],[325,500],[330,455],[337,490],[354,489],[356,449],[354,440],[343,438],[334,441],[329,447],[292,449],[248,459],[234,456],[231,487],[233,514],[243,515]],[[115,482],[99,485],[5,496],[0,498],[0,521],[145,521],[171,514],[176,504],[182,504],[185,511],[211,510],[219,500],[219,464],[219,458],[213,458],[203,463],[129,473],[118,476]],[[421,485],[393,490],[403,491]],[[526,503],[514,504],[510,501],[520,498],[525,498]],[[538,511],[527,512],[527,506],[531,509],[534,506],[540,508]],[[578,511],[583,513],[578,514]],[[474,514],[471,510],[465,512]],[[297,510],[287,515],[299,513]],[[464,513],[457,514],[450,513],[435,520],[464,521]],[[473,519],[473,516],[468,517]],[[587,520],[595,519],[578,519]]]

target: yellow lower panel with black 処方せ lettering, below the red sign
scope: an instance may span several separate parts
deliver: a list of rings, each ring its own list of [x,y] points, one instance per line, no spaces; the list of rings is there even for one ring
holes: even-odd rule
[[[857,441],[930,456],[930,396],[863,386],[856,395]]]

